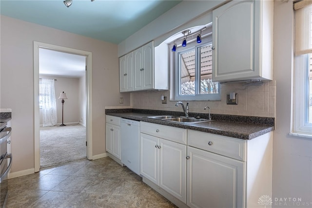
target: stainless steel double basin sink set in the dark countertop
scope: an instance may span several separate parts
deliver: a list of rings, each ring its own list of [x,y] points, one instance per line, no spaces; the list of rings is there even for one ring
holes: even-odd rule
[[[170,122],[181,123],[181,124],[196,124],[196,123],[213,121],[207,118],[195,118],[195,117],[174,116],[174,115],[156,115],[156,116],[148,116],[148,118],[154,118],[158,120],[170,121]]]

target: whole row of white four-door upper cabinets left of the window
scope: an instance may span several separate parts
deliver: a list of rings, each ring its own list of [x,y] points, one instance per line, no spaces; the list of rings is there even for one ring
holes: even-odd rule
[[[119,58],[120,92],[169,89],[168,45],[151,41]],[[126,57],[132,57],[132,63]],[[125,60],[124,60],[125,59]],[[129,73],[129,69],[132,69]],[[126,74],[126,75],[125,75]],[[132,78],[132,79],[131,79]]]

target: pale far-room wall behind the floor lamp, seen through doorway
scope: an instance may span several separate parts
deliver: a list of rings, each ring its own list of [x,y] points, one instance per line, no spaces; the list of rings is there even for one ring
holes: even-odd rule
[[[64,101],[64,123],[73,123],[78,122],[81,118],[80,116],[80,100],[79,100],[79,88],[80,80],[79,78],[68,78],[60,76],[42,76],[39,75],[39,78],[50,78],[56,79],[54,82],[55,88],[55,99],[57,104],[57,114],[58,114],[58,124],[62,123],[62,103],[59,99],[60,93],[66,93],[68,99]],[[82,83],[85,86],[84,83]],[[85,95],[84,95],[85,96]],[[86,100],[84,100],[84,103]],[[83,102],[81,102],[83,103]],[[84,105],[85,106],[85,105]],[[40,109],[40,125],[42,125],[42,111]]]

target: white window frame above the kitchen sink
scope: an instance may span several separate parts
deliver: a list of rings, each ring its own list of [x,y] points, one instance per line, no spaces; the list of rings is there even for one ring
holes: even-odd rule
[[[201,43],[197,43],[195,39],[188,40],[187,46],[185,47],[177,47],[176,52],[174,53],[174,100],[207,100],[207,101],[220,101],[221,100],[221,86],[218,83],[218,93],[217,94],[200,94],[199,82],[200,82],[200,67],[198,67],[198,63],[200,62],[200,56],[197,56],[200,53],[200,47],[212,44],[212,34],[209,34],[207,37],[202,38]],[[196,61],[195,61],[195,95],[179,95],[180,86],[181,86],[181,70],[180,70],[180,54],[185,53],[187,51],[191,51],[195,49]]]

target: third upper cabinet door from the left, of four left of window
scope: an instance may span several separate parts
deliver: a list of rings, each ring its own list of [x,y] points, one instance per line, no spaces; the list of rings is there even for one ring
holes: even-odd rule
[[[134,88],[135,91],[143,90],[143,54],[142,47],[134,51]]]

